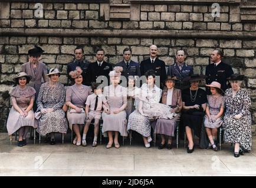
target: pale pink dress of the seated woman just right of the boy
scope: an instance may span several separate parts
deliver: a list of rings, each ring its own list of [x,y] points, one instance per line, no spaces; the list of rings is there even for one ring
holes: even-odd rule
[[[126,120],[126,105],[127,105],[127,89],[117,85],[114,88],[113,85],[106,86],[103,89],[103,95],[106,96],[107,103],[110,106],[110,110],[122,111],[117,114],[102,113],[103,119],[103,130],[107,131],[118,131],[121,136],[127,136],[127,120]]]

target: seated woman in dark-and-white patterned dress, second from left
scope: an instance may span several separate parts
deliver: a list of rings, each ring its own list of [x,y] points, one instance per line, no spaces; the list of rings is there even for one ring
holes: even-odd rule
[[[51,145],[55,144],[54,132],[67,133],[68,125],[65,119],[63,105],[65,103],[64,85],[58,82],[60,71],[50,69],[47,74],[50,80],[43,83],[37,98],[37,106],[42,116],[38,120],[37,131],[44,136],[51,133]]]

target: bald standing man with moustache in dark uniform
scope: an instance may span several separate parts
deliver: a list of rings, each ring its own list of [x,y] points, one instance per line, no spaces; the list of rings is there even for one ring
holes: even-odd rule
[[[147,70],[154,70],[156,76],[160,76],[160,83],[164,83],[166,79],[166,69],[165,62],[158,59],[157,56],[157,46],[151,45],[149,48],[150,58],[142,61],[140,63],[140,73],[141,75],[145,75]],[[162,87],[161,87],[162,88]]]

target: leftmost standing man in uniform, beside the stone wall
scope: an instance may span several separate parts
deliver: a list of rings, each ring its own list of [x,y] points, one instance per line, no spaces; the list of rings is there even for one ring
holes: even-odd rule
[[[71,83],[73,84],[73,79],[71,79],[69,73],[70,71],[76,70],[77,66],[80,66],[80,68],[83,70],[83,73],[82,73],[83,84],[86,85],[87,69],[90,63],[83,58],[83,55],[84,55],[83,47],[77,46],[77,48],[74,50],[74,53],[75,53],[74,61],[69,62],[67,65],[68,79],[71,80]]]

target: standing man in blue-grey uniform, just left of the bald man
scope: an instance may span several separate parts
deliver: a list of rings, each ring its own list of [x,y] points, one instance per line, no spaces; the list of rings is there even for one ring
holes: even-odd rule
[[[122,75],[126,77],[127,83],[129,76],[139,76],[140,77],[140,65],[131,60],[132,49],[125,48],[123,50],[123,61],[116,64],[116,66],[122,66]]]

